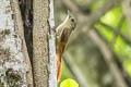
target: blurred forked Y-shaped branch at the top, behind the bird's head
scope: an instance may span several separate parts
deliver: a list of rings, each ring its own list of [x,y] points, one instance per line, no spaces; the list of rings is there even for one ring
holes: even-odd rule
[[[94,25],[99,18],[115,5],[118,5],[122,0],[107,0],[100,8],[98,8],[95,12],[91,13],[90,16],[84,15],[76,4],[74,4],[71,0],[62,0],[63,3],[72,10],[73,14],[78,17],[78,26],[81,26],[81,29],[78,28],[75,35],[71,38],[72,40],[78,38],[79,33],[87,32],[88,28]],[[86,25],[88,28],[83,28]]]

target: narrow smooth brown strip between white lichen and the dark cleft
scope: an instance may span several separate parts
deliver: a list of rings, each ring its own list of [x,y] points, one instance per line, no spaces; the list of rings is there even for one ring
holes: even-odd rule
[[[24,61],[27,63],[27,67],[28,67],[28,71],[27,71],[27,74],[26,74],[27,86],[33,87],[32,65],[31,65],[31,61],[29,61],[29,57],[28,57],[28,53],[27,53],[27,48],[26,48],[26,44],[25,44],[25,39],[24,39],[24,27],[23,27],[23,21],[22,21],[22,15],[21,15],[19,2],[17,2],[17,0],[11,0],[11,3],[12,3],[12,9],[14,11],[15,30],[22,39],[22,42],[23,42],[22,51],[23,51],[23,54],[24,54]]]

